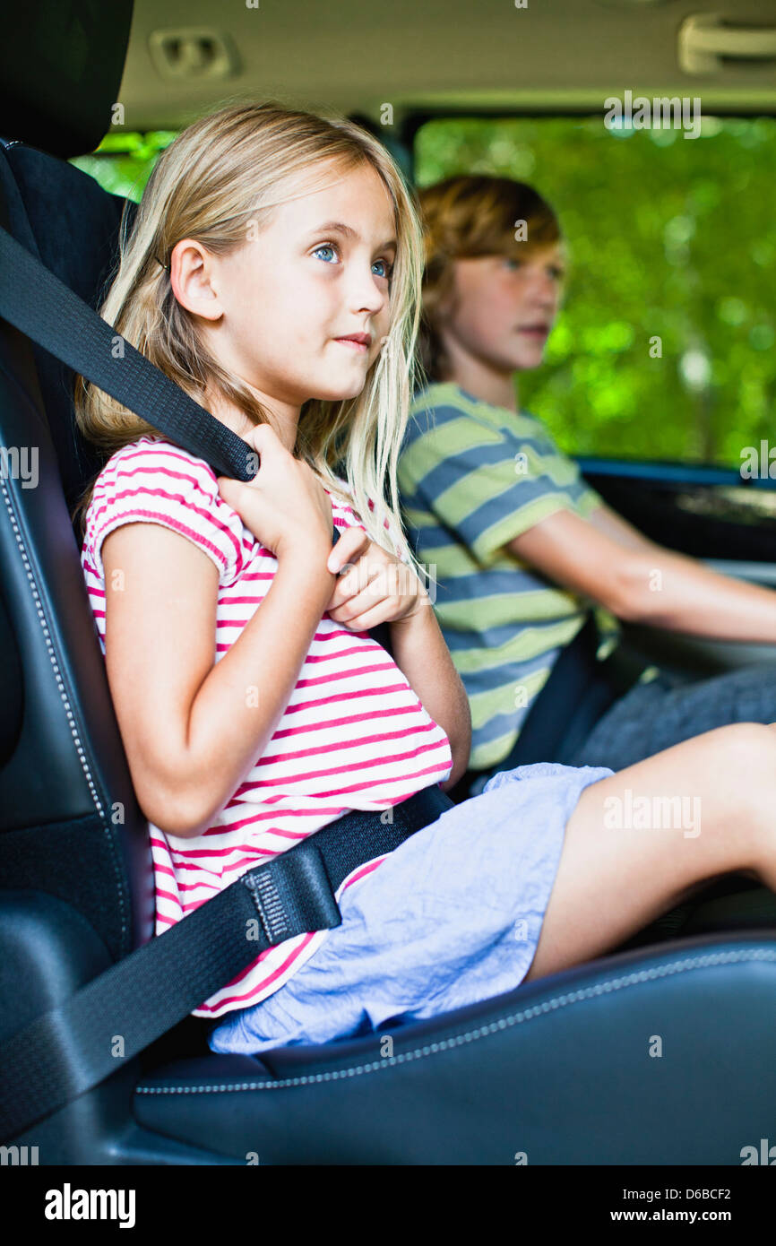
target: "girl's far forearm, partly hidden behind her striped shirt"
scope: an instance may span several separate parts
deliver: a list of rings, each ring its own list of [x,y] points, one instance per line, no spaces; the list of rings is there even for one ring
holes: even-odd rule
[[[442,791],[447,791],[468,769],[472,720],[466,689],[452,664],[430,601],[416,614],[395,619],[389,627],[394,662],[417,693],[426,713],[450,740],[452,770],[450,778],[440,784]]]

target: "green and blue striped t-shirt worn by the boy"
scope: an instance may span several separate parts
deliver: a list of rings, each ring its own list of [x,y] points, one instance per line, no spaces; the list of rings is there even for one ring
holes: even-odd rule
[[[399,487],[407,536],[432,577],[436,617],[468,695],[470,768],[487,770],[508,755],[594,606],[503,547],[557,511],[587,518],[602,498],[539,420],[450,381],[415,397]],[[600,658],[618,624],[600,608],[595,616]]]

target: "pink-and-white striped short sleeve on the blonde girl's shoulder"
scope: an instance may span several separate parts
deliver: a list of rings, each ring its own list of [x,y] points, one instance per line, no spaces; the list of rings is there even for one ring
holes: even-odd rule
[[[101,548],[122,523],[161,523],[208,556],[219,582],[243,569],[243,522],[218,492],[203,460],[168,442],[142,441],[118,450],[97,477],[86,516],[85,545],[105,578]]]

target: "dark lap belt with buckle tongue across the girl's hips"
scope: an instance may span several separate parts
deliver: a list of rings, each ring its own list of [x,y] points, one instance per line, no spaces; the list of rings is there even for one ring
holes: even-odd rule
[[[116,1034],[123,1038],[122,1060],[131,1059],[259,952],[294,934],[340,926],[334,896],[344,878],[451,807],[435,785],[382,814],[353,810],[338,817],[19,1030],[0,1047],[0,1140],[16,1138],[116,1073]]]

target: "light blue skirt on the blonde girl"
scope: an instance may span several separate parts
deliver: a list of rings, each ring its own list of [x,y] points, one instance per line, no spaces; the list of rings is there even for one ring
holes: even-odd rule
[[[494,775],[341,896],[341,926],[273,996],[228,1013],[213,1052],[258,1055],[437,1017],[513,991],[533,961],[565,824],[614,771],[556,763]]]

